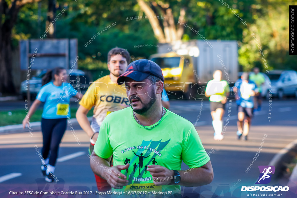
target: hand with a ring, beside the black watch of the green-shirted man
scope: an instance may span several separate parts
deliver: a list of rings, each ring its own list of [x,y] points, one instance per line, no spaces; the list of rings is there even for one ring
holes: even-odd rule
[[[159,165],[149,165],[146,169],[153,176],[156,186],[168,185],[173,179],[174,171]]]

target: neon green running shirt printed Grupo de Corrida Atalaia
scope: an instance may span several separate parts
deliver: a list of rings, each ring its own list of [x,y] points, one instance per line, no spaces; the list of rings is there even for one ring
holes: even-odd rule
[[[181,161],[189,168],[195,168],[210,160],[191,122],[167,110],[160,124],[147,130],[134,119],[131,107],[106,116],[94,152],[104,159],[113,154],[114,166],[130,164],[128,170],[121,170],[129,179],[128,185],[113,191],[180,193],[178,185],[154,186],[150,172],[146,171],[147,165],[156,164],[170,170],[181,170]]]

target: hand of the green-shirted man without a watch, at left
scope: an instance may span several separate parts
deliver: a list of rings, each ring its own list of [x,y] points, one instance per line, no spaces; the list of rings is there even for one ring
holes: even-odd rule
[[[122,174],[121,170],[126,170],[130,164],[117,165],[113,167],[108,167],[105,170],[104,178],[114,189],[122,189],[123,186],[127,186],[128,180],[127,176]],[[102,168],[105,168],[104,166]]]

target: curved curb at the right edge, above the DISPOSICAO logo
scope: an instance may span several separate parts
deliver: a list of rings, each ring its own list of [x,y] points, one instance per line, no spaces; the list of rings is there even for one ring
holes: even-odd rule
[[[296,156],[297,140],[294,140],[273,157],[273,159],[269,162],[269,165],[275,166],[274,175],[276,176],[276,180],[284,176],[287,164],[290,164]]]

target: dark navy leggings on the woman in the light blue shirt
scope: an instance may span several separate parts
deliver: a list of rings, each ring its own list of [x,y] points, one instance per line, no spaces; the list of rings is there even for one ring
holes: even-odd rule
[[[42,157],[48,158],[50,151],[50,161],[48,164],[55,166],[58,158],[59,144],[66,131],[67,118],[41,119],[41,130],[43,137]]]

